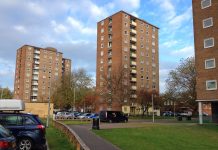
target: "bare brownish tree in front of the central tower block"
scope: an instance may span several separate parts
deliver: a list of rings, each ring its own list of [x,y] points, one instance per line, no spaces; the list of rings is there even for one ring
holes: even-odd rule
[[[129,92],[130,83],[129,78],[126,76],[127,72],[127,69],[122,68],[103,76],[100,95],[109,107],[112,107],[113,103],[121,106],[128,101],[131,93]]]

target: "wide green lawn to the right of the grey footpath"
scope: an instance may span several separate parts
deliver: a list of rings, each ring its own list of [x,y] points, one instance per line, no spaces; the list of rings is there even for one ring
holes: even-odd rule
[[[145,125],[143,128],[95,130],[122,150],[217,150],[218,126]]]

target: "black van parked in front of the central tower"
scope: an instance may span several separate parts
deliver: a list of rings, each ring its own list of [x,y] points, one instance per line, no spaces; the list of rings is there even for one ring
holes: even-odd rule
[[[128,117],[121,111],[100,111],[101,122],[128,122]]]

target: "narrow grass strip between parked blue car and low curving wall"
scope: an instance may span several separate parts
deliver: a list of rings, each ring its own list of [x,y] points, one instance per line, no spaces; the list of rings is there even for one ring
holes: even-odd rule
[[[50,150],[75,150],[66,135],[52,124],[46,129],[46,139]]]

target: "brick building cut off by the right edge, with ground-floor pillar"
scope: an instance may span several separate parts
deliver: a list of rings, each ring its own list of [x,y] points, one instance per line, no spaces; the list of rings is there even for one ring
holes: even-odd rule
[[[199,120],[202,124],[202,107],[209,104],[212,120],[218,122],[218,0],[192,3]]]

